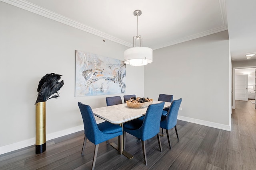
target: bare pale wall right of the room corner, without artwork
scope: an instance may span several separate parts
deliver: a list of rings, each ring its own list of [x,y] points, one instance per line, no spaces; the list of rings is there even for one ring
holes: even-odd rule
[[[228,31],[154,50],[145,67],[145,96],[182,98],[179,118],[230,129],[231,83]]]

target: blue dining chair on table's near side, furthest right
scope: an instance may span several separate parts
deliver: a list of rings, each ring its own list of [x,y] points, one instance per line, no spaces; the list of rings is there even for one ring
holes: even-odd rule
[[[172,101],[172,104],[168,110],[167,115],[166,116],[162,115],[161,117],[160,127],[162,129],[166,129],[166,135],[167,135],[170,149],[172,149],[172,146],[169,138],[169,132],[168,132],[169,129],[172,129],[173,127],[175,128],[176,135],[179,140],[176,124],[177,124],[177,117],[178,117],[178,112],[179,112],[181,102],[182,102],[181,98],[178,100]]]

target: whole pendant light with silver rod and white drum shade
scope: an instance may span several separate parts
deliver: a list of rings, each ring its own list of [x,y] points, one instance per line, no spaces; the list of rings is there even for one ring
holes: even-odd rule
[[[138,16],[141,15],[141,10],[135,10],[133,14],[137,16],[137,36],[133,37],[133,48],[124,51],[124,63],[131,66],[144,66],[152,63],[153,50],[148,47],[142,47],[142,37],[140,37],[138,31]]]

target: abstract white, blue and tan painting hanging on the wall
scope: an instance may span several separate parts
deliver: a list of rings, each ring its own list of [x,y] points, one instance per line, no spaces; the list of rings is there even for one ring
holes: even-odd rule
[[[124,61],[76,50],[76,97],[124,92]]]

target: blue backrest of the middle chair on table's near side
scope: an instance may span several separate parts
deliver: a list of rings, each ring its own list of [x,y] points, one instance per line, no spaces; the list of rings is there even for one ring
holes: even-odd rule
[[[138,138],[146,141],[147,139],[150,139],[159,133],[163,108],[164,102],[151,104],[148,106],[143,124],[140,127],[139,133],[141,134],[137,136]]]

